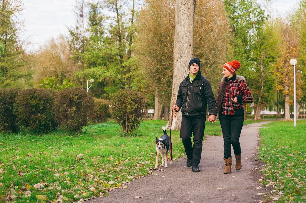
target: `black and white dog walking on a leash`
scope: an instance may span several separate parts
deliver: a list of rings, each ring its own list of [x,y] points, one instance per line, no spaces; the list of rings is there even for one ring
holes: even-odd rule
[[[166,154],[168,153],[170,144],[172,149],[172,143],[170,143],[170,137],[167,135],[166,127],[162,126],[162,130],[164,131],[164,135],[161,136],[159,139],[155,136],[155,142],[156,142],[156,157],[155,157],[155,168],[158,168],[158,157],[159,154],[162,157],[162,165],[165,166],[165,168],[168,168],[168,162],[166,158]],[[165,156],[165,161],[164,161]],[[169,162],[169,164],[172,164],[172,161]]]

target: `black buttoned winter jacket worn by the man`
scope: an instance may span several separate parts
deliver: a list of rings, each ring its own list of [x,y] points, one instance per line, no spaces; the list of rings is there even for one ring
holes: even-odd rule
[[[207,103],[208,114],[217,115],[215,97],[209,81],[201,75],[201,71],[192,82],[190,82],[188,74],[179,86],[175,103],[179,108],[182,108],[182,115],[206,116]]]

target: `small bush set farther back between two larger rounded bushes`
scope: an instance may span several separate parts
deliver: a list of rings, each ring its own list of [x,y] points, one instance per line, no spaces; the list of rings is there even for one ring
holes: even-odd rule
[[[93,121],[95,123],[102,123],[106,121],[107,118],[110,118],[110,111],[109,111],[110,101],[94,98],[94,102],[95,102],[95,107],[94,107],[95,113]]]

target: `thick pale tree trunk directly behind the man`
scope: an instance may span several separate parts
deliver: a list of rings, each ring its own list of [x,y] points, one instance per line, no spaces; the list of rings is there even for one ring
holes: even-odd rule
[[[177,91],[181,81],[188,74],[188,62],[193,58],[193,18],[195,0],[175,0],[175,29],[173,50],[173,83],[170,107],[172,108],[177,99]],[[181,111],[173,116],[172,129],[181,127]],[[171,120],[171,118],[170,118]],[[167,128],[170,128],[170,120]]]

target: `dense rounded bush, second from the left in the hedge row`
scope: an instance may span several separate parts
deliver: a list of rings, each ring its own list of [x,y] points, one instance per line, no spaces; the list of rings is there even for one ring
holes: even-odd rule
[[[25,89],[19,92],[15,102],[17,123],[33,132],[48,132],[55,129],[54,91]]]

